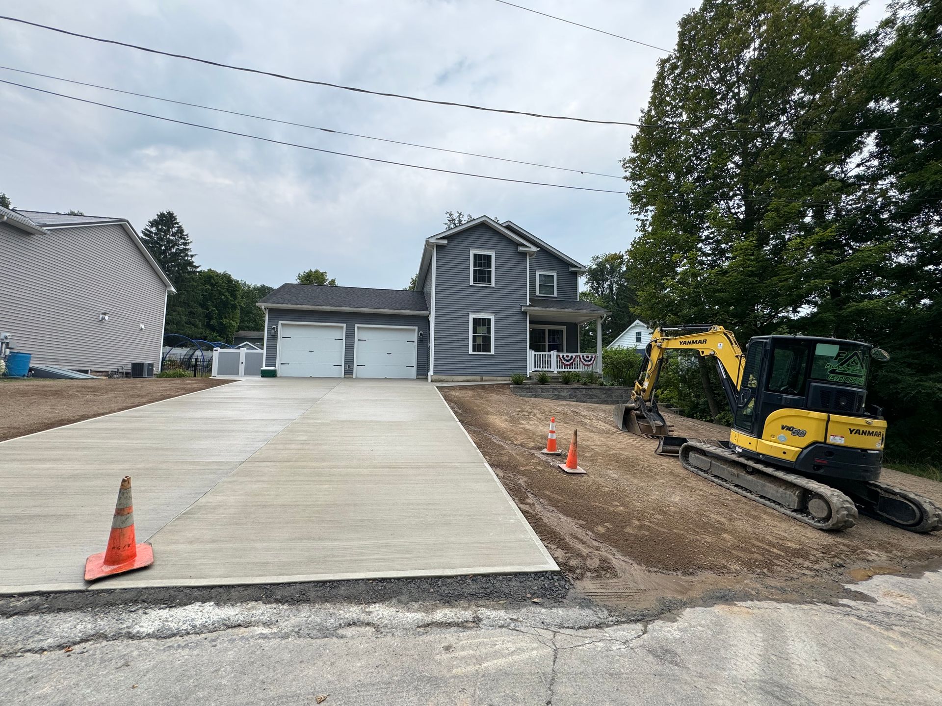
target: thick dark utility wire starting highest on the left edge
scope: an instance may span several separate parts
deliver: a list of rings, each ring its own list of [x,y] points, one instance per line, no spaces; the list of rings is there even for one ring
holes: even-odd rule
[[[340,88],[343,90],[351,90],[356,93],[366,93],[374,96],[384,96],[387,98],[400,98],[405,101],[414,101],[415,103],[428,103],[434,105],[447,105],[450,107],[460,107],[460,108],[469,108],[471,110],[481,110],[488,113],[504,113],[507,115],[523,115],[530,118],[544,118],[546,120],[573,120],[576,122],[591,122],[597,125],[624,125],[626,127],[637,127],[637,128],[649,128],[649,129],[663,129],[663,130],[676,130],[678,132],[719,132],[719,133],[753,133],[753,134],[768,134],[768,135],[780,135],[782,131],[778,130],[766,130],[766,129],[755,129],[748,127],[698,127],[698,126],[685,126],[685,125],[670,125],[670,124],[656,124],[656,123],[641,123],[641,122],[629,122],[626,120],[593,120],[591,118],[577,118],[575,116],[567,115],[545,115],[544,113],[530,113],[524,110],[511,110],[508,108],[489,108],[483,105],[475,105],[468,103],[452,103],[450,101],[434,101],[430,98],[417,98],[415,96],[407,96],[401,93],[386,93],[379,90],[369,90],[368,88],[357,88],[353,86],[342,86],[340,84],[332,84],[326,81],[315,81],[314,79],[309,78],[299,78],[297,76],[289,76],[284,73],[275,73],[267,72],[261,69],[251,69],[244,66],[235,66],[233,64],[224,64],[219,61],[211,61],[210,59],[197,58],[196,56],[187,56],[186,54],[172,54],[171,52],[163,52],[159,49],[151,49],[150,47],[138,46],[138,44],[129,44],[125,41],[118,40],[106,40],[101,37],[92,37],[87,34],[79,34],[78,32],[71,32],[67,29],[60,29],[58,27],[53,27],[48,24],[39,24],[35,22],[29,22],[28,20],[21,20],[17,17],[9,17],[8,15],[0,15],[0,20],[8,20],[9,22],[16,22],[20,24],[29,24],[30,26],[40,27],[41,29],[48,29],[52,32],[58,32],[59,34],[69,35],[70,37],[78,37],[83,40],[92,40],[100,41],[105,44],[115,44],[117,46],[128,47],[129,49],[137,49],[141,52],[147,52],[149,54],[157,54],[160,56],[172,56],[174,58],[187,59],[187,61],[196,61],[201,64],[207,64],[209,66],[217,66],[222,69],[232,69],[238,72],[247,72],[247,73],[257,73],[264,76],[272,76],[273,78],[281,78],[285,81],[295,81],[302,84],[310,84],[312,86],[325,86],[327,88]],[[877,128],[856,128],[851,130],[791,130],[790,132],[796,135],[820,135],[820,134],[831,134],[831,133],[878,133],[888,130],[910,130],[913,127],[918,127],[918,125],[902,125],[898,127],[877,127]],[[931,127],[942,127],[942,125],[931,125]]]

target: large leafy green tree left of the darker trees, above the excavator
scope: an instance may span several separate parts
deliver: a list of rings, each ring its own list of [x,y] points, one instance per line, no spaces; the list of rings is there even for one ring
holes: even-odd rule
[[[706,0],[659,61],[625,159],[642,317],[777,329],[885,257],[854,213],[867,40],[855,10]],[[861,250],[866,256],[859,256]],[[871,255],[869,250],[876,249]],[[820,254],[809,257],[809,253]]]

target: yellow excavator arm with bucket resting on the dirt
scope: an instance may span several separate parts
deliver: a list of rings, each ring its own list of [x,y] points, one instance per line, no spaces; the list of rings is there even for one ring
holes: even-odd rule
[[[667,436],[667,423],[658,411],[654,393],[658,388],[660,368],[668,350],[692,350],[716,361],[729,408],[735,413],[739,403],[744,356],[733,332],[722,326],[658,327],[644,351],[642,368],[635,381],[631,399],[616,405],[615,425],[622,431],[642,436]]]

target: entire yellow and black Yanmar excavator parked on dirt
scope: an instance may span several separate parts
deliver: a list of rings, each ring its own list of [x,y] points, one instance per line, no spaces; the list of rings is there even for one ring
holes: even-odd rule
[[[733,413],[729,441],[673,437],[655,391],[665,354],[716,361]],[[869,344],[812,336],[756,336],[739,348],[722,326],[655,329],[631,399],[616,405],[622,431],[659,440],[684,468],[821,530],[853,527],[858,511],[909,530],[942,528],[942,510],[880,482],[886,422],[868,406]]]

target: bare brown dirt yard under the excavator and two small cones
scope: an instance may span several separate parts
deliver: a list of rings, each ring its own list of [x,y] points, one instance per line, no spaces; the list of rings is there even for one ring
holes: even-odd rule
[[[608,405],[517,397],[504,385],[441,392],[560,568],[595,600],[831,600],[840,582],[942,566],[939,534],[866,517],[843,533],[813,529],[656,456],[656,441],[614,427]],[[539,453],[551,415],[563,450],[578,429],[587,475]],[[665,417],[678,436],[728,439],[723,426]],[[883,480],[942,502],[940,483],[890,470]]]

